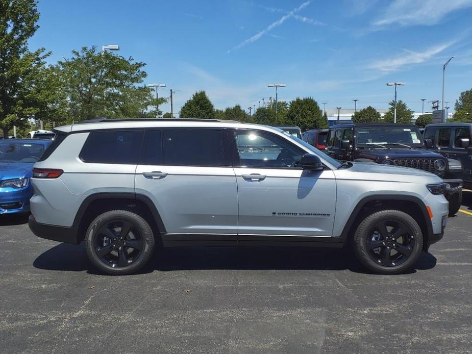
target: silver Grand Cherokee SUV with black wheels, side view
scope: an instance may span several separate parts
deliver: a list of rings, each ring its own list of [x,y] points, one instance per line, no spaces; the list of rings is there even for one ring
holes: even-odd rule
[[[438,241],[442,180],[418,169],[340,162],[264,125],[210,119],[94,119],[56,128],[35,164],[31,230],[79,244],[128,274],[159,246],[352,243],[398,273]]]

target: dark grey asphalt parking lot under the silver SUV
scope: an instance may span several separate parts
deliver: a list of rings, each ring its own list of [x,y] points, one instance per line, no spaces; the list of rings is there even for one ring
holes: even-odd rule
[[[402,275],[368,273],[337,249],[188,247],[106,276],[82,245],[2,217],[0,350],[470,353],[472,192],[462,210]]]

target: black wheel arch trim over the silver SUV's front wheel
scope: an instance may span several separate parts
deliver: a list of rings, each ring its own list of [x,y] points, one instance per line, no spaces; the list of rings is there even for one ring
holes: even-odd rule
[[[415,196],[412,195],[392,195],[392,194],[380,194],[380,195],[370,195],[362,198],[359,203],[356,205],[354,210],[352,211],[349,219],[347,219],[346,224],[344,225],[344,229],[342,230],[341,237],[339,237],[339,242],[345,242],[349,236],[349,233],[351,231],[351,227],[353,226],[354,222],[357,219],[357,216],[359,215],[360,211],[362,208],[369,203],[370,201],[383,201],[383,200],[394,200],[394,201],[412,201],[415,203],[421,212],[423,213],[423,216],[425,218],[426,222],[426,227],[428,231],[428,235],[425,235],[425,243],[427,240],[430,239],[430,236],[433,235],[433,224],[431,222],[431,219],[428,214],[428,210],[426,209],[425,203],[423,201]],[[336,237],[333,237],[333,241],[336,242]]]

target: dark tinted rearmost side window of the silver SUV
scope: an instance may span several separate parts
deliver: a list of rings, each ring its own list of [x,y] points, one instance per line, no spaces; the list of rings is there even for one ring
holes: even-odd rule
[[[79,157],[84,162],[137,164],[143,131],[91,132]]]

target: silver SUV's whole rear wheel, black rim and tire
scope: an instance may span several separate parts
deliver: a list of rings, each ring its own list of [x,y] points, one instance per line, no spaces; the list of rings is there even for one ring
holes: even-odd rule
[[[122,236],[122,232],[126,235]],[[154,243],[153,231],[146,220],[127,210],[98,215],[85,235],[90,262],[112,275],[131,274],[144,267],[154,253]]]

